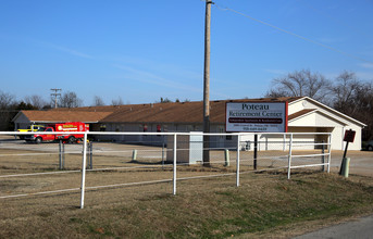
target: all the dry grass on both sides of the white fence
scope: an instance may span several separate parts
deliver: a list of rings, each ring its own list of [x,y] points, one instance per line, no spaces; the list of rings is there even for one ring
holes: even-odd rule
[[[33,144],[27,150],[16,143],[3,144],[0,147],[0,176],[62,173],[0,178],[0,197],[25,194],[0,199],[0,238],[288,237],[343,218],[373,213],[373,181],[370,177],[344,179],[335,174],[302,171],[295,172],[291,180],[287,180],[286,172],[277,169],[243,174],[241,186],[237,188],[235,164],[223,166],[222,151],[211,153],[216,161],[212,167],[178,166],[177,178],[233,175],[178,180],[176,196],[172,194],[172,181],[89,189],[92,186],[172,179],[172,167],[162,165],[160,158],[151,156],[162,155],[159,148],[137,148],[138,161],[133,162],[134,146],[123,144],[111,144],[110,150],[104,148],[105,144],[97,146],[101,151],[95,153],[94,169],[113,168],[87,172],[88,190],[85,209],[80,210],[82,146],[66,148],[70,153],[65,154],[65,169],[58,171],[57,143],[48,143],[42,149]],[[235,152],[231,153],[231,159],[235,159]],[[251,171],[251,152],[245,153],[243,156],[250,160],[241,169]],[[61,189],[74,190],[26,196]]]

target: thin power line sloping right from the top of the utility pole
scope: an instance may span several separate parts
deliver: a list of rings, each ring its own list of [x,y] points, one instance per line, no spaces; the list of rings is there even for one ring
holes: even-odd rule
[[[272,25],[272,24],[270,24],[270,23],[266,23],[266,22],[264,22],[264,21],[254,18],[254,17],[252,17],[252,16],[250,16],[250,15],[248,15],[248,14],[238,12],[238,11],[233,10],[233,9],[229,9],[229,8],[222,8],[222,7],[217,5],[216,3],[215,3],[214,5],[215,5],[217,9],[220,9],[220,10],[234,12],[234,13],[239,14],[239,15],[243,15],[243,16],[249,18],[249,20],[252,20],[252,21],[254,21],[254,22],[257,22],[257,23],[266,25],[266,26],[269,26],[269,27],[272,27],[272,28],[274,28],[274,29],[276,29],[276,30],[283,32],[283,33],[288,34],[288,35],[290,35],[290,36],[294,36],[294,37],[297,37],[297,38],[299,38],[299,39],[302,39],[302,40],[309,41],[309,42],[311,42],[311,43],[318,45],[318,46],[320,46],[320,47],[326,48],[326,49],[328,49],[328,50],[331,50],[331,51],[335,51],[335,52],[337,52],[337,53],[344,54],[344,55],[349,56],[349,58],[351,58],[351,59],[355,59],[355,60],[359,60],[359,61],[363,61],[363,62],[373,64],[373,61],[369,61],[369,60],[366,60],[366,59],[363,59],[363,58],[357,56],[357,55],[355,55],[355,54],[345,52],[345,51],[339,50],[339,49],[337,49],[337,48],[334,48],[334,47],[331,47],[331,46],[321,43],[321,42],[319,42],[319,41],[312,40],[312,39],[310,39],[310,38],[300,36],[300,35],[298,35],[298,34],[295,34],[295,33],[290,32],[290,30],[286,30],[286,29],[283,29],[283,28],[281,28],[281,27],[278,27],[278,26],[275,26],[275,25]]]

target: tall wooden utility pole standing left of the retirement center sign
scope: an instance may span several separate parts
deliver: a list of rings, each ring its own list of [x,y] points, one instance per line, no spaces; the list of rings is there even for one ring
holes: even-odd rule
[[[212,1],[206,0],[204,71],[203,71],[203,133],[210,133],[210,25]],[[203,165],[210,166],[210,136],[203,136]]]

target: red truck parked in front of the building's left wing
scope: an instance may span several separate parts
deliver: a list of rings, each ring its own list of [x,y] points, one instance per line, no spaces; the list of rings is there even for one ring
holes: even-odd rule
[[[66,133],[66,134],[35,134],[35,135],[27,135],[25,136],[26,141],[35,141],[40,143],[42,141],[54,141],[54,140],[62,140],[65,142],[74,143],[77,140],[82,140],[84,138],[84,134],[71,134],[77,131],[89,131],[89,126],[82,122],[67,122],[61,124],[50,124],[46,129],[45,133]]]

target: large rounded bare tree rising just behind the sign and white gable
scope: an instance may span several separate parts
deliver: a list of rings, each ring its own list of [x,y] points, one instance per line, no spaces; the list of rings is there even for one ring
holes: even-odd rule
[[[310,70],[295,71],[287,76],[272,80],[273,86],[266,97],[310,97],[323,101],[330,90],[330,80]]]

